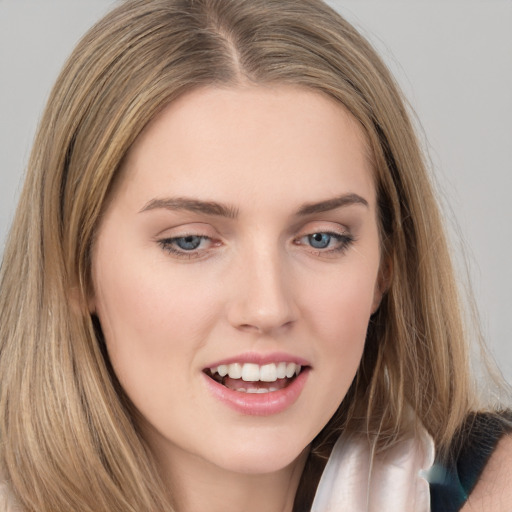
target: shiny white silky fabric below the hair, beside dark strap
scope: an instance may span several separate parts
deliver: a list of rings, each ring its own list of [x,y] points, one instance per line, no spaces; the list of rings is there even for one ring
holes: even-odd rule
[[[311,512],[430,512],[434,442],[423,432],[371,456],[366,439],[343,435],[318,484]]]

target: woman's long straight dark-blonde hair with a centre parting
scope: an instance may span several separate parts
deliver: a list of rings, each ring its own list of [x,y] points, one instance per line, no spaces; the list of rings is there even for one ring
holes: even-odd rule
[[[411,429],[440,453],[475,394],[457,288],[423,156],[394,80],[320,0],[128,0],[67,61],[41,120],[0,276],[0,463],[37,512],[172,510],[91,318],[91,247],[124,155],[192,88],[313,88],[366,132],[389,289],[348,395],[315,439],[386,446]]]

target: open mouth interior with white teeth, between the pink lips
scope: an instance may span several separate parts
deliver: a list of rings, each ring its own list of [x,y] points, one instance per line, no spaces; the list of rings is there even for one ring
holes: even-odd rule
[[[204,373],[228,389],[241,393],[272,393],[288,387],[305,367],[279,362],[258,365],[232,363],[207,368]]]

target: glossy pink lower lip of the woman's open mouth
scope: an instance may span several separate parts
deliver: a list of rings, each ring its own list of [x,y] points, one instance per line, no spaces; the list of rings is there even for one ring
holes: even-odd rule
[[[234,391],[203,374],[208,390],[215,398],[231,409],[250,416],[270,416],[291,407],[304,389],[308,375],[309,369],[305,368],[285,388],[259,394]]]

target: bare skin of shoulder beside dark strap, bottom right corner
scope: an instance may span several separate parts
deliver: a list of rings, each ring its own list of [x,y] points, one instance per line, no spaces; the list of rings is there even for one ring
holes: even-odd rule
[[[512,434],[498,442],[462,512],[512,510]]]

